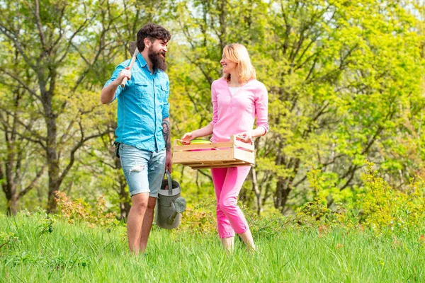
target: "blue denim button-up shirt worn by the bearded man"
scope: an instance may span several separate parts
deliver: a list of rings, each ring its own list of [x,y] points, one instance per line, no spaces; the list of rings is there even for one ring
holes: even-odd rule
[[[105,86],[129,65],[130,60],[119,64]],[[165,147],[162,119],[169,117],[169,78],[161,70],[152,74],[141,54],[137,55],[131,71],[131,80],[124,88],[118,86],[113,98],[118,98],[116,141],[137,149],[161,151]]]

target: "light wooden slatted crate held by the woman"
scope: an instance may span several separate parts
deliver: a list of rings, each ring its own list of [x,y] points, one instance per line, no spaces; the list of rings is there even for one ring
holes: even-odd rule
[[[246,144],[236,137],[230,141],[212,144],[189,144],[173,146],[173,163],[192,169],[223,168],[254,165],[254,144]]]

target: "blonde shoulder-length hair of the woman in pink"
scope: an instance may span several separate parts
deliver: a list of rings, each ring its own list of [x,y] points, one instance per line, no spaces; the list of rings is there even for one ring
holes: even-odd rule
[[[232,43],[226,45],[223,49],[223,57],[230,62],[237,63],[237,74],[239,74],[239,81],[246,83],[250,79],[256,79],[255,69],[249,59],[248,50],[244,45],[239,43]],[[230,74],[223,74],[223,78],[230,81]]]

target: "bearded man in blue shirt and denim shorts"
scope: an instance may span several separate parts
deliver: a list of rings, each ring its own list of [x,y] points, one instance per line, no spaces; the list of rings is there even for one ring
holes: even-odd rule
[[[171,172],[169,78],[164,72],[170,38],[162,26],[141,28],[132,70],[130,59],[119,64],[101,92],[103,104],[118,99],[115,143],[132,200],[127,232],[135,254],[146,249],[164,172]],[[121,87],[124,78],[128,81]]]

